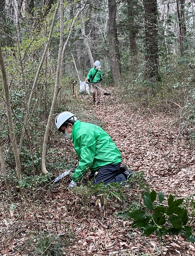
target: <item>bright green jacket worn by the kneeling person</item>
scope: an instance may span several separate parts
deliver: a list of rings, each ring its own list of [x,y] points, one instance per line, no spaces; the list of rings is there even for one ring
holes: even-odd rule
[[[99,168],[121,162],[121,153],[111,137],[99,126],[76,121],[72,130],[74,149],[79,165],[72,176],[80,182],[88,169],[92,172]]]

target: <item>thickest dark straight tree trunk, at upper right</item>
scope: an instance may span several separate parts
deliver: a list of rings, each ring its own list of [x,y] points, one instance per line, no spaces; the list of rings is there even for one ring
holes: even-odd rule
[[[145,71],[144,79],[158,78],[157,0],[144,0]]]

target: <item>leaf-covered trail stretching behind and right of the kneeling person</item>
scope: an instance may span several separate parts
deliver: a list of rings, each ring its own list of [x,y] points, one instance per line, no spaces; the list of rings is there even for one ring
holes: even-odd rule
[[[93,111],[120,149],[122,163],[142,171],[152,189],[179,197],[194,195],[195,150],[182,136],[176,142],[176,118],[139,114],[116,102],[113,95],[102,96],[102,105]]]

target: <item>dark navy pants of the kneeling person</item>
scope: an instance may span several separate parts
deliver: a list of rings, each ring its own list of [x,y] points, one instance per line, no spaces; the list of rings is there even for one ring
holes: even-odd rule
[[[121,173],[119,174],[119,169],[121,163],[106,165],[101,167],[98,171],[92,172],[89,179],[92,180],[92,184],[96,185],[101,182],[104,184],[126,181],[126,177]]]

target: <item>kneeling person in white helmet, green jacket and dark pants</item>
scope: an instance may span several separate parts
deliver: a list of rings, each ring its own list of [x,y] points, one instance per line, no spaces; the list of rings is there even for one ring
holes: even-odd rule
[[[111,137],[99,126],[84,123],[74,114],[64,111],[56,117],[58,133],[62,132],[74,142],[74,150],[79,158],[72,181],[68,187],[77,186],[91,171],[89,179],[93,185],[103,182],[125,182],[131,171],[121,166],[121,153]]]

